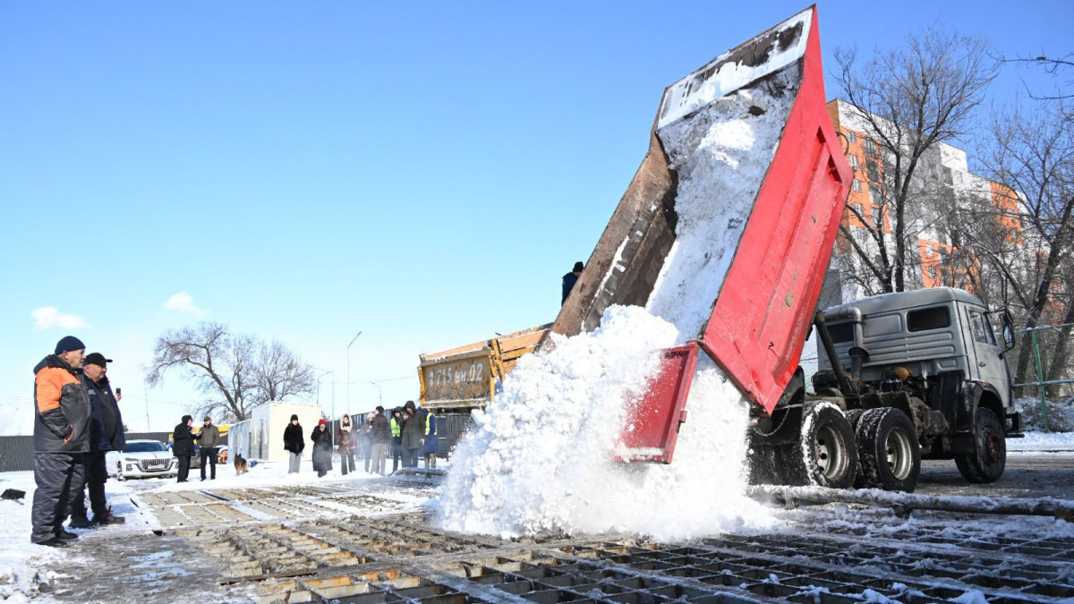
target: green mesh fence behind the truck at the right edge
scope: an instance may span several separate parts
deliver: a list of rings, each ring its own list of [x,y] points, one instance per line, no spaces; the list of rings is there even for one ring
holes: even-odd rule
[[[1074,359],[1071,358],[1071,334],[1074,323],[1039,326],[1027,329],[1020,344],[1029,346],[1030,364],[1021,372],[1021,382],[1015,384],[1021,397],[1035,397],[1041,401],[1041,425],[1050,430],[1048,407],[1050,401],[1069,401],[1074,398]],[[1008,357],[1016,363],[1018,357]],[[1013,371],[1017,368],[1012,366]]]

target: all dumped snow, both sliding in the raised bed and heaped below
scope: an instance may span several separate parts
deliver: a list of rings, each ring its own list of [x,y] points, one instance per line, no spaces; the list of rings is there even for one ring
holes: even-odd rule
[[[771,528],[744,494],[749,403],[703,355],[673,463],[611,460],[659,350],[697,337],[708,319],[786,123],[796,69],[662,125],[679,219],[648,311],[612,306],[595,332],[523,358],[455,452],[442,527],[656,538]]]

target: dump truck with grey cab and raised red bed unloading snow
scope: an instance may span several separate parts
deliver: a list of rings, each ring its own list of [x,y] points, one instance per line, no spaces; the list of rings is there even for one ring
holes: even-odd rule
[[[625,462],[673,462],[703,355],[752,403],[754,481],[913,491],[923,455],[995,480],[1020,431],[1008,313],[1004,348],[996,313],[964,291],[816,311],[853,177],[817,31],[812,6],[665,89],[649,152],[547,333],[593,331],[633,304],[688,337],[632,408]],[[827,364],[807,392],[814,326]]]

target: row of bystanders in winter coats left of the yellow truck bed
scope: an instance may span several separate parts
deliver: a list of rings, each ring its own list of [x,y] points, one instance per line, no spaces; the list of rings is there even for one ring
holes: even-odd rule
[[[413,401],[392,409],[392,417],[384,415],[384,407],[377,406],[375,413],[359,416],[351,421],[350,415],[339,418],[334,438],[328,430],[328,422],[321,419],[309,434],[313,446],[314,471],[324,476],[332,471],[332,449],[339,454],[340,473],[346,476],[354,472],[357,460],[364,460],[367,473],[388,473],[388,457],[392,457],[392,472],[400,468],[417,468],[418,456],[425,460],[425,468],[436,468],[437,433],[436,416],[426,409],[416,408]],[[299,416],[292,415],[284,430],[284,448],[290,454],[289,473],[299,472],[306,442],[303,437]]]

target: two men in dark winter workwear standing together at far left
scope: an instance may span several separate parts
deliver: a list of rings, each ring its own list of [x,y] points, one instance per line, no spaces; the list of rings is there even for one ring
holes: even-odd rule
[[[107,378],[112,359],[86,355],[86,345],[73,335],[56,344],[54,354],[33,368],[33,492],[30,541],[64,547],[78,535],[63,528],[88,529],[122,522],[112,514],[104,495],[108,473],[105,454],[124,450],[121,393],[113,393]],[[84,489],[88,487],[88,517]]]

